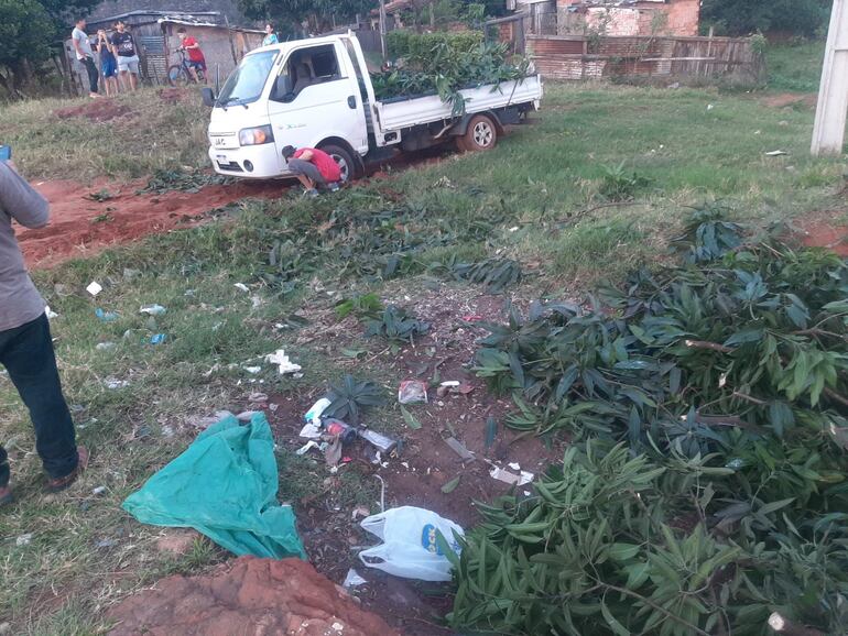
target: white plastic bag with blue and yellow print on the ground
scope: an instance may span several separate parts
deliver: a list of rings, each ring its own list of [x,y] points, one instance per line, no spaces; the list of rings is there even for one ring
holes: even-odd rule
[[[454,522],[424,508],[402,506],[371,515],[360,525],[383,540],[359,552],[359,559],[369,568],[405,579],[450,580],[450,561],[436,544],[436,531],[444,535],[458,555],[460,548],[454,534],[460,537],[465,534]]]

